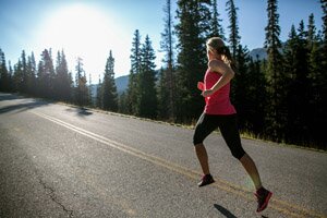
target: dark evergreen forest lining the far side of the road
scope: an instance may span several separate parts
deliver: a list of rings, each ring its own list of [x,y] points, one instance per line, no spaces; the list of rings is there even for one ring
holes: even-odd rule
[[[162,65],[148,35],[138,29],[131,36],[131,70],[128,89],[118,94],[114,57],[108,52],[104,72],[93,93],[83,59],[70,72],[64,50],[45,49],[36,63],[35,53],[23,50],[19,61],[7,61],[0,48],[0,92],[64,101],[172,123],[195,124],[204,99],[196,87],[207,69],[205,41],[221,37],[237,66],[231,82],[231,101],[242,133],[277,143],[327,149],[327,0],[319,0],[323,17],[307,14],[293,24],[288,39],[280,40],[278,1],[266,0],[267,25],[263,47],[266,59],[251,57],[241,45],[238,5],[228,0],[178,0],[162,5],[160,48]],[[228,13],[223,29],[219,11]],[[323,26],[315,20],[322,19]],[[100,72],[99,72],[100,73]],[[93,97],[96,96],[96,97]]]

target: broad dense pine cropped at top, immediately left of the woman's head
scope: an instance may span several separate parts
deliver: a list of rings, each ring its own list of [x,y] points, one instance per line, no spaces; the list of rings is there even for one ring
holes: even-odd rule
[[[178,1],[177,117],[180,122],[190,122],[203,111],[204,99],[196,84],[203,81],[206,70],[205,41],[209,29],[206,19],[210,19],[203,17],[206,10],[207,1]],[[205,24],[207,31],[204,29]]]

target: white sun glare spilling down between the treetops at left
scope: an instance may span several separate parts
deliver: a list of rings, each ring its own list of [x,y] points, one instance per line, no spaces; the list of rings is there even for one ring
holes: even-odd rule
[[[43,49],[52,48],[52,53],[63,49],[70,59],[70,69],[74,69],[72,64],[81,57],[84,65],[92,71],[87,73],[99,74],[105,69],[109,50],[119,52],[121,39],[114,26],[110,14],[86,4],[74,4],[55,12],[45,21],[37,44]]]

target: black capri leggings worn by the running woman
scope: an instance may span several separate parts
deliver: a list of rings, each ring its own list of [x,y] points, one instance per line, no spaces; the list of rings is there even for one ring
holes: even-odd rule
[[[219,116],[202,113],[195,126],[193,144],[202,144],[217,128],[219,128],[232,156],[241,159],[245,155],[245,152],[241,144],[237,114]]]

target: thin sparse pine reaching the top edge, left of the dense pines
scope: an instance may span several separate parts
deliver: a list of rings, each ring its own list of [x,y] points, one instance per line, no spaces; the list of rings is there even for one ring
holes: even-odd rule
[[[175,76],[174,76],[174,52],[173,52],[173,22],[171,15],[171,1],[167,0],[166,5],[164,8],[165,12],[165,29],[161,34],[161,43],[160,47],[165,52],[164,62],[167,64],[165,70],[160,73],[160,88],[158,89],[159,94],[159,110],[168,112],[168,114],[164,116],[164,118],[169,118],[170,120],[174,120],[174,92],[175,92]],[[168,95],[167,95],[168,94]]]

